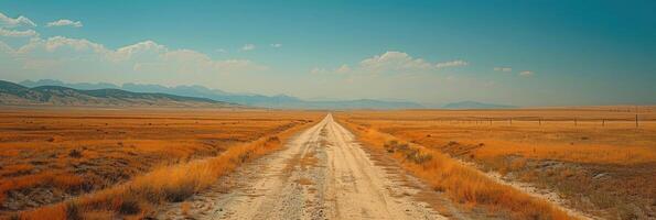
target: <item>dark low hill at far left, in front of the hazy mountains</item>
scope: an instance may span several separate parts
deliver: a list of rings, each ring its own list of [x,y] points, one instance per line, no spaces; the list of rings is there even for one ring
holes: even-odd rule
[[[63,86],[25,87],[0,80],[0,105],[98,106],[98,107],[240,107],[206,98],[121,89],[82,90]]]

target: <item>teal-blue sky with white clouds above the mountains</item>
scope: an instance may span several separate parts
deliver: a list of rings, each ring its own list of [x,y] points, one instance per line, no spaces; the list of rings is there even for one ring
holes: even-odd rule
[[[654,11],[654,1],[0,1],[0,78],[429,105],[656,103]]]

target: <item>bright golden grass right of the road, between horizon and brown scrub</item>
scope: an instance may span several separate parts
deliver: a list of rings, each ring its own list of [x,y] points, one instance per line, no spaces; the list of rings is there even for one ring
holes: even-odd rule
[[[638,129],[631,121],[635,112],[620,111],[626,108],[362,111],[349,112],[348,119],[424,145],[484,143],[473,152],[475,156],[520,154],[577,163],[656,162],[654,108],[638,109],[643,120]],[[603,127],[602,119],[607,120]]]

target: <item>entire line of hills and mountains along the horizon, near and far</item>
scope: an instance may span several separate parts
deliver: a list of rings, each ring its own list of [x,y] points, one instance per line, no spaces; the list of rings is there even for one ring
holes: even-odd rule
[[[420,103],[399,100],[303,100],[278,95],[234,94],[203,86],[67,84],[60,80],[0,80],[0,105],[53,106],[170,106],[170,107],[260,107],[277,109],[422,109]],[[507,109],[513,106],[476,101],[452,102],[442,109]]]

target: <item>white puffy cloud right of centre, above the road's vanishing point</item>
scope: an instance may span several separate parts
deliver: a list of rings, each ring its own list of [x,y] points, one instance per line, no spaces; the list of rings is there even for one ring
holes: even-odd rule
[[[358,63],[355,67],[342,65],[338,68],[330,72],[322,69],[322,72],[346,74],[346,73],[361,73],[361,74],[412,74],[412,73],[430,73],[437,72],[442,68],[461,67],[469,65],[467,62],[455,59],[443,63],[431,63],[421,58],[415,58],[402,52],[385,52],[380,55],[376,55],[366,58]],[[311,73],[316,73],[318,69],[312,69]]]

